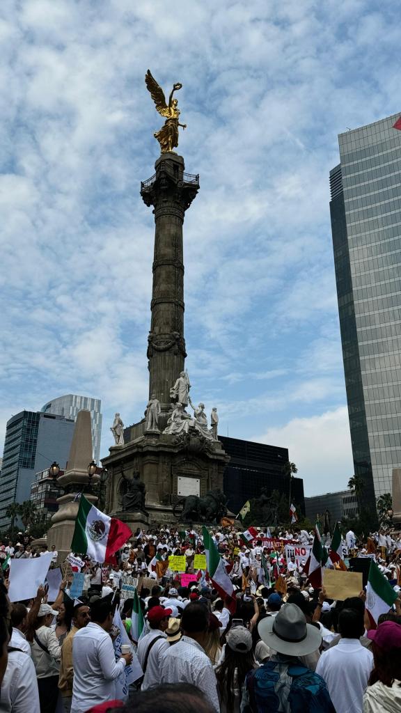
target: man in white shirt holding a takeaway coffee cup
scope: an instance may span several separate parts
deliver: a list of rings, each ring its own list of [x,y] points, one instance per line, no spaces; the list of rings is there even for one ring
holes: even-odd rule
[[[73,696],[71,713],[84,713],[89,708],[115,698],[115,681],[132,654],[122,654],[116,662],[110,632],[113,627],[111,604],[98,600],[91,606],[91,619],[73,637]]]

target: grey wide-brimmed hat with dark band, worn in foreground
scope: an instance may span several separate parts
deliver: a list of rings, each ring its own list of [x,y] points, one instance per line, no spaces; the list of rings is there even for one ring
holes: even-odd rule
[[[305,615],[296,604],[283,604],[275,617],[262,619],[258,632],[273,651],[290,656],[311,654],[322,643],[320,631],[306,623]]]

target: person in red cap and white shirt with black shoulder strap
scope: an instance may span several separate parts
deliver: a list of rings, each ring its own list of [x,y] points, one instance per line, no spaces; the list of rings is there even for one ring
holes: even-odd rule
[[[164,653],[170,648],[167,635],[171,609],[152,607],[148,611],[148,624],[151,631],[138,642],[138,659],[143,670],[141,689],[156,686],[160,682],[160,667]]]

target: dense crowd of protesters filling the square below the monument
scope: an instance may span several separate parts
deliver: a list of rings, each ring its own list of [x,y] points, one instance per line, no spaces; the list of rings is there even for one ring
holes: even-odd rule
[[[71,553],[50,601],[43,583],[36,597],[10,602],[9,566],[50,551],[57,568],[54,545],[33,551],[22,533],[1,543],[0,711],[401,711],[400,595],[373,622],[364,589],[333,601],[310,585],[300,552],[313,532],[253,534],[210,533],[230,596],[195,567],[205,553],[197,527],[138,530],[112,565]],[[349,530],[342,548],[345,563],[374,559],[400,593],[400,536],[380,530],[359,540]],[[185,572],[171,567],[172,555],[185,558]],[[78,597],[71,588],[77,562],[84,575]],[[185,585],[183,575],[193,575]],[[124,680],[126,687],[118,685]]]

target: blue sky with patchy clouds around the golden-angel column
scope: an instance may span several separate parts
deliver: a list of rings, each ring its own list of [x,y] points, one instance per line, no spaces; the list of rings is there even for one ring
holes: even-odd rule
[[[399,7],[347,0],[0,4],[0,441],[66,393],[148,396],[153,216],[139,196],[176,81],[193,401],[290,448],[305,494],[352,475],[328,173],[337,134],[400,111]],[[1,446],[0,446],[1,452]]]

